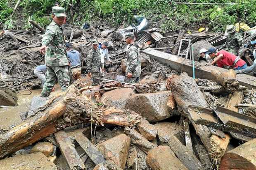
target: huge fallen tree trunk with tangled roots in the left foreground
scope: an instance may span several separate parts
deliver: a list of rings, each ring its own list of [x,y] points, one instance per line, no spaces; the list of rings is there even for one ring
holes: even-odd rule
[[[135,112],[130,112],[133,114],[130,117],[127,114],[129,112],[119,111],[98,110],[94,103],[72,85],[66,92],[49,99],[33,117],[0,133],[0,158],[68,126],[84,124],[86,121],[121,126],[135,126],[139,122],[140,116]]]

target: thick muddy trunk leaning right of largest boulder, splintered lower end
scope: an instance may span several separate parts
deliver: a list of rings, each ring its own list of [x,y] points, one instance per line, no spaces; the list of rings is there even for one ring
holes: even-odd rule
[[[186,117],[190,119],[197,135],[200,137],[202,143],[206,147],[209,153],[216,152],[216,148],[213,146],[220,145],[218,142],[221,140],[213,140],[215,135],[211,134],[211,131],[207,126],[195,124],[192,118],[189,116],[189,106],[201,106],[209,108],[208,103],[204,99],[204,94],[199,90],[199,87],[195,80],[187,73],[182,73],[180,76],[173,76],[168,78],[166,82],[166,88],[171,90],[174,99],[179,109],[184,113]],[[217,137],[218,138],[218,137]],[[214,159],[219,160],[220,158],[211,155]]]

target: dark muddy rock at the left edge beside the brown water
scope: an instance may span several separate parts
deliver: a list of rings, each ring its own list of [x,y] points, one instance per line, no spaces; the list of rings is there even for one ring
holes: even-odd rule
[[[9,89],[0,89],[0,106],[16,106],[17,96],[16,92]]]

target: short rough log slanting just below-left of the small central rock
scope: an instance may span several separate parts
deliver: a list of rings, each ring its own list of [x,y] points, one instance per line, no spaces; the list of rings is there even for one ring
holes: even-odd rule
[[[130,129],[129,127],[126,127],[124,129],[124,133],[131,138],[131,142],[139,147],[143,152],[147,154],[150,149],[157,147],[152,142],[149,142],[146,138],[144,138],[140,133],[138,133],[134,129]]]

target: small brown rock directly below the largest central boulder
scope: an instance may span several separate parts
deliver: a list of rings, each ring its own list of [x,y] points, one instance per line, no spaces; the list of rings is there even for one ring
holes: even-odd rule
[[[156,138],[157,130],[153,124],[150,124],[146,119],[141,119],[140,123],[137,124],[137,128],[140,134],[148,140],[154,140]]]

